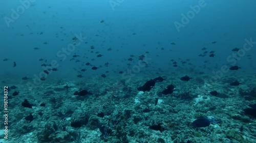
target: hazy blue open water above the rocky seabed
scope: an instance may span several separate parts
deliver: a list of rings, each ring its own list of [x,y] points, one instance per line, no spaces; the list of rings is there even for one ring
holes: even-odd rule
[[[223,65],[241,69],[221,72],[222,77],[254,74],[255,6],[256,1],[252,0],[2,0],[0,80],[4,82],[1,85],[20,83],[30,88],[57,79],[86,82],[95,78],[103,82],[102,74],[106,80],[137,81],[143,77],[141,82],[173,73],[179,74],[177,79],[186,74],[195,77],[198,72],[215,76]],[[74,37],[78,40],[72,40]],[[255,42],[248,44],[248,41]],[[63,51],[71,45],[74,49]],[[208,53],[201,57],[203,47]],[[231,51],[236,47],[241,53]],[[209,51],[215,51],[214,58],[209,57]],[[98,54],[102,57],[97,57]],[[234,54],[240,56],[234,59]],[[79,56],[73,58],[73,55]],[[148,59],[144,61],[146,67],[139,60],[140,55]],[[133,61],[127,61],[129,58]],[[173,67],[172,59],[178,67]],[[91,65],[84,65],[87,62]],[[104,65],[107,62],[109,66]],[[44,68],[42,64],[52,66]],[[98,69],[92,70],[94,66]],[[58,71],[43,72],[52,68]],[[79,74],[82,78],[77,77]],[[22,80],[23,77],[29,80]],[[46,81],[38,77],[46,77]]]

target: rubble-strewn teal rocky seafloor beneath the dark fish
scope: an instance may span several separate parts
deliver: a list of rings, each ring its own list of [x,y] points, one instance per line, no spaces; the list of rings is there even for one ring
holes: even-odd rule
[[[158,76],[137,75],[131,80],[100,77],[86,81],[46,80],[33,89],[23,83],[15,84],[17,89],[9,92],[9,137],[1,141],[255,142],[256,119],[243,111],[256,103],[255,74],[222,77],[219,82],[209,82],[210,75],[194,75],[189,81],[181,81],[177,75],[162,75],[166,79],[157,82],[150,91],[137,90]],[[229,85],[238,78],[242,84]],[[14,83],[8,82],[8,86]],[[174,93],[162,95],[169,84],[175,85]],[[65,85],[69,89],[63,88]],[[74,95],[81,90],[92,94]],[[220,94],[209,94],[215,90]],[[14,91],[19,94],[12,96]],[[25,99],[32,108],[21,105]],[[41,103],[46,106],[39,106]],[[149,110],[143,111],[146,108]],[[25,120],[30,113],[31,122]],[[214,117],[219,122],[203,128],[191,127],[201,117]],[[72,127],[72,123],[80,126]],[[165,130],[151,130],[153,123],[160,123]],[[102,126],[104,133],[99,129]]]

